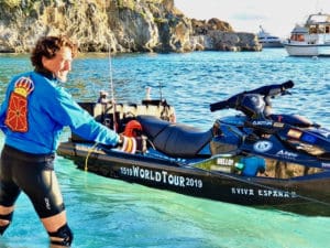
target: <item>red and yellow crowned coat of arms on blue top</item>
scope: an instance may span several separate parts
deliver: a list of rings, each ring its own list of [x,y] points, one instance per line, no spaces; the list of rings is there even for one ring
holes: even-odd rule
[[[26,132],[28,123],[28,96],[34,89],[33,82],[29,77],[21,77],[15,82],[7,109],[4,123],[15,132]]]

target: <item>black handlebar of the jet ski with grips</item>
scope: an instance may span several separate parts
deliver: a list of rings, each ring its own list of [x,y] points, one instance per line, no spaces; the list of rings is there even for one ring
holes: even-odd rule
[[[210,110],[213,112],[216,110],[221,110],[221,109],[226,109],[226,108],[238,108],[238,104],[240,101],[240,99],[246,95],[246,94],[258,94],[264,96],[264,98],[268,98],[268,97],[274,97],[276,95],[282,95],[285,94],[287,89],[293,88],[294,87],[294,82],[293,80],[287,80],[283,84],[278,84],[278,85],[266,85],[266,86],[262,86],[249,91],[243,91],[243,93],[239,93],[232,97],[230,97],[227,100],[221,100],[215,104],[210,104]]]

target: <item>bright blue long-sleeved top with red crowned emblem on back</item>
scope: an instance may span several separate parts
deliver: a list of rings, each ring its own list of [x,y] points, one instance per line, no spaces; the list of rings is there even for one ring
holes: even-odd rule
[[[97,122],[50,74],[30,72],[9,84],[0,108],[4,143],[29,153],[56,151],[64,127],[86,140],[114,145],[119,134]]]

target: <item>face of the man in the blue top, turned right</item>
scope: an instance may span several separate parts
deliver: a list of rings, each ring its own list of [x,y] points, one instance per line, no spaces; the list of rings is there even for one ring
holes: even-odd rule
[[[52,72],[54,76],[61,82],[67,80],[67,74],[72,71],[73,54],[67,46],[62,47],[53,58],[42,58],[43,65],[46,69]]]

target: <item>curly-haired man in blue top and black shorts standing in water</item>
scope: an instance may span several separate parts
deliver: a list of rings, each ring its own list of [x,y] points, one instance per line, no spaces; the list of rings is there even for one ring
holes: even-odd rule
[[[10,225],[23,191],[52,246],[69,247],[73,233],[54,172],[61,131],[68,126],[87,140],[110,145],[132,139],[96,122],[61,86],[76,53],[77,46],[65,36],[42,37],[31,55],[34,72],[13,77],[8,86],[0,108],[0,128],[6,134],[0,161],[0,235]]]

